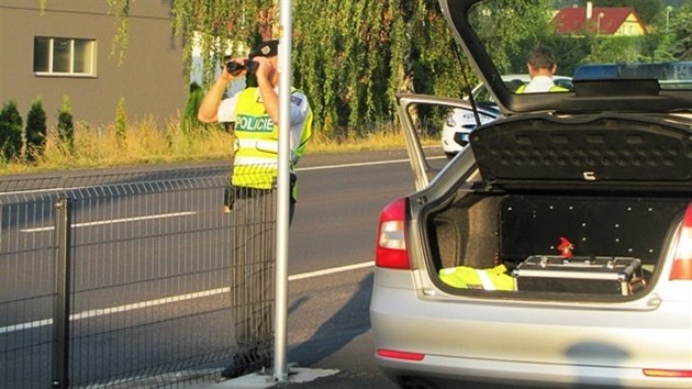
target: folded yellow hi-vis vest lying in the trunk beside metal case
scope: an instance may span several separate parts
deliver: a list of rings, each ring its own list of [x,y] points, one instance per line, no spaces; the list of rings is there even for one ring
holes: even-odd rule
[[[514,290],[514,278],[506,271],[504,265],[490,269],[447,267],[439,270],[439,279],[455,288],[511,291]]]

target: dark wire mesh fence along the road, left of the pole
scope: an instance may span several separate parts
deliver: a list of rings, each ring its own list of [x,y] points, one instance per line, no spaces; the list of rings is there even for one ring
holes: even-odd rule
[[[3,180],[0,388],[55,378],[59,198],[72,204],[70,387],[208,380],[233,362],[238,329],[270,336],[234,316],[272,303],[274,190],[225,213],[227,182],[227,166]]]

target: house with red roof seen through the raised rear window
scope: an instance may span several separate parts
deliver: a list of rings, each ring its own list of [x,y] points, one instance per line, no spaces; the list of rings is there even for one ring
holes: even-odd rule
[[[632,7],[563,8],[550,22],[562,35],[644,35],[646,26]]]

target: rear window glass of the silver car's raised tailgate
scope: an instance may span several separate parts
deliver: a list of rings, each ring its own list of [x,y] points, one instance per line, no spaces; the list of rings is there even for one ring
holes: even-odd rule
[[[692,55],[677,42],[687,38],[683,7],[650,3],[485,0],[472,5],[469,24],[498,74],[526,73],[533,64],[542,75],[569,76],[532,91],[571,91],[572,78],[649,79],[660,89],[692,89]]]

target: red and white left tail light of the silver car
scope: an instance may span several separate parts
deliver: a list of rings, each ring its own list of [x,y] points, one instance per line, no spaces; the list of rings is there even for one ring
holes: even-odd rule
[[[380,212],[377,232],[375,265],[392,269],[410,269],[409,252],[404,236],[404,224],[409,202],[401,198],[390,202]]]

